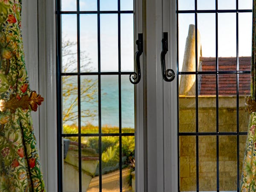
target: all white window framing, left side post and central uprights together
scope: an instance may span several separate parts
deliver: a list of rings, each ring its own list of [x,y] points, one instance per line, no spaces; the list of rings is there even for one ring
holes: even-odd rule
[[[23,38],[27,41],[24,45],[29,47],[25,49],[29,53],[26,55],[27,68],[31,87],[45,98],[39,113],[34,115],[34,127],[40,141],[38,145],[47,191],[57,192],[55,1],[28,2],[23,0],[23,17],[27,18]],[[136,12],[143,14],[143,19],[135,14],[135,39],[138,33],[143,32],[144,42],[142,78],[135,86],[137,192],[177,191],[177,78],[172,82],[163,81],[160,64],[162,32],[167,30],[169,52],[166,61],[170,62],[166,62],[166,68],[177,71],[175,4],[175,0],[140,0],[135,5]],[[172,19],[162,21],[166,14]],[[31,35],[33,40],[28,41]],[[34,64],[33,61],[36,66],[31,68],[29,64]]]

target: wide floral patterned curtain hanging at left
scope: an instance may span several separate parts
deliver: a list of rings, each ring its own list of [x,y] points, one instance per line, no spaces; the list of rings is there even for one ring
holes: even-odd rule
[[[0,0],[0,104],[32,96],[20,32],[21,0]],[[30,108],[0,105],[0,192],[44,192]]]

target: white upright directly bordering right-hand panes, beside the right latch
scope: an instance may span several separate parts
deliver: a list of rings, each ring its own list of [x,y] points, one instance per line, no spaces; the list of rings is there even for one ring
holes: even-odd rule
[[[175,71],[175,79],[164,84],[164,186],[165,192],[178,191],[178,142],[177,142],[177,40],[176,0],[169,0],[169,67]]]

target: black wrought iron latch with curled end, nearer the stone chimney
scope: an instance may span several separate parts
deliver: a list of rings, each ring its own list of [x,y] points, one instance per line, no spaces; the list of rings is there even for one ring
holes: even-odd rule
[[[172,69],[166,70],[165,55],[168,51],[168,33],[167,32],[163,32],[162,46],[163,46],[163,50],[161,52],[162,75],[165,81],[170,82],[170,81],[173,81],[173,79],[175,78],[175,72]]]

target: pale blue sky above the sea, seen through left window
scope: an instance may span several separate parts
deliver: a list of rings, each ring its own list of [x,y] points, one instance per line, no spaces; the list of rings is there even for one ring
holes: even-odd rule
[[[96,11],[96,0],[80,0],[81,11]],[[132,0],[121,0],[121,10],[133,10]],[[63,11],[75,11],[73,0],[62,0]],[[100,10],[117,10],[117,0],[102,0]],[[118,71],[118,22],[117,14],[100,16],[101,71]],[[88,27],[90,26],[90,27]],[[76,14],[62,15],[62,34],[66,39],[77,41]],[[121,14],[121,70],[134,70],[133,14]],[[85,51],[93,71],[98,70],[97,15],[80,15],[80,50]],[[76,52],[76,49],[73,49]]]

